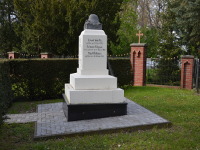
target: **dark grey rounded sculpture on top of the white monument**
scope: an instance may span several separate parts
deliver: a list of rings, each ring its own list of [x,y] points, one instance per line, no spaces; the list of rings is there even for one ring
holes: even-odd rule
[[[95,14],[91,14],[89,19],[85,21],[85,29],[102,30],[102,24],[99,22],[99,17]]]

